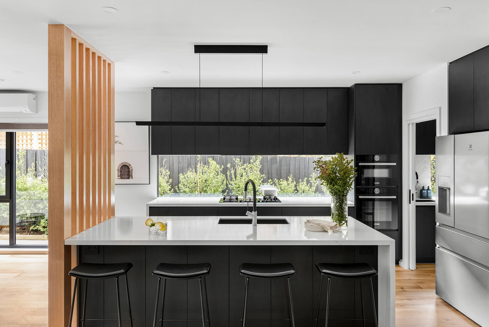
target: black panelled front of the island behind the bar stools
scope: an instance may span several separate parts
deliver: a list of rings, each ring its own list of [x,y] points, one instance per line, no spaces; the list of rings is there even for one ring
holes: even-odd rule
[[[128,273],[129,292],[134,326],[153,326],[158,278],[152,275],[160,262],[201,263],[212,265],[206,277],[209,313],[214,327],[240,327],[243,313],[244,281],[239,266],[244,262],[279,263],[290,262],[297,274],[290,277],[295,326],[313,326],[317,308],[320,274],[315,268],[318,262],[367,262],[378,267],[377,246],[362,251],[362,246],[186,246],[186,245],[106,245],[99,246],[97,255],[88,255],[87,246],[79,246],[79,262],[132,262]],[[362,255],[360,253],[369,253]],[[319,319],[324,319],[326,311],[326,285],[323,279]],[[374,326],[368,281],[363,281],[366,326]],[[378,280],[373,278],[374,295],[378,303]],[[125,283],[120,282],[121,308],[123,318],[127,314]],[[83,283],[82,283],[83,289]],[[83,292],[82,292],[83,293]],[[195,319],[194,322],[168,322],[177,327],[202,326],[199,280],[167,280],[165,292],[164,319]],[[79,301],[83,294],[78,293]],[[157,320],[161,317],[162,290],[157,308]],[[115,280],[89,280],[87,319],[117,318]],[[378,305],[376,305],[378,308]],[[287,319],[284,279],[266,280],[251,278],[248,288],[246,318]],[[330,319],[360,319],[359,281],[332,279],[330,292]],[[103,322],[90,322],[90,326],[103,327]],[[328,326],[362,326],[355,322],[331,321]],[[159,326],[159,321],[157,326]],[[164,324],[164,325],[166,325]],[[320,322],[323,326],[324,320]],[[253,327],[281,327],[287,322],[249,322]],[[117,326],[117,320],[105,322],[105,326]]]

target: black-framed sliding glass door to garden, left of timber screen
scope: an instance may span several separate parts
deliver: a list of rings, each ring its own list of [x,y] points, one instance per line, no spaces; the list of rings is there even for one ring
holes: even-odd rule
[[[0,132],[0,246],[47,246],[47,146],[47,132]]]

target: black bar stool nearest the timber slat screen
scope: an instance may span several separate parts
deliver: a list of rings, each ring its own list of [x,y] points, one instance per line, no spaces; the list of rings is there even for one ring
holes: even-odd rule
[[[127,282],[127,272],[133,267],[130,262],[125,263],[80,263],[75,268],[71,269],[68,273],[69,276],[75,278],[75,286],[73,287],[73,300],[71,302],[71,310],[69,312],[69,324],[71,327],[71,320],[73,318],[73,306],[75,304],[76,284],[78,279],[84,279],[85,281],[85,294],[83,295],[83,311],[82,311],[82,327],[85,326],[85,321],[101,321],[101,320],[118,320],[119,327],[121,327],[122,320],[129,320],[131,327],[133,326],[133,316],[131,314],[131,301],[129,300],[129,285]],[[119,276],[124,275],[126,277],[126,291],[127,291],[127,304],[129,307],[129,319],[121,319],[121,303],[119,292]],[[117,316],[118,319],[85,319],[85,313],[87,308],[87,287],[89,280],[94,279],[108,279],[115,278],[115,285],[117,289]]]

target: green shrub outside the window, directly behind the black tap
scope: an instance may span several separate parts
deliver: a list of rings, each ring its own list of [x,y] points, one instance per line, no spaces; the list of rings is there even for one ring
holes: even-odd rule
[[[265,175],[260,173],[262,169],[261,156],[253,156],[249,163],[243,163],[239,158],[234,158],[234,167],[227,164],[227,183],[232,192],[243,195],[244,183],[248,179],[255,182],[256,187],[263,184]]]

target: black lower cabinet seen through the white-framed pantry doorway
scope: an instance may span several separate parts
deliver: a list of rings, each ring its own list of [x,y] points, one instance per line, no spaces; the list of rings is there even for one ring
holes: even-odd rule
[[[435,263],[435,206],[416,206],[416,263]]]

